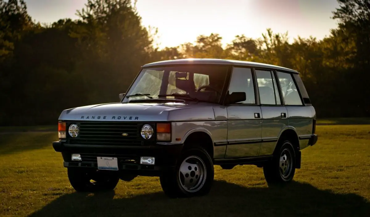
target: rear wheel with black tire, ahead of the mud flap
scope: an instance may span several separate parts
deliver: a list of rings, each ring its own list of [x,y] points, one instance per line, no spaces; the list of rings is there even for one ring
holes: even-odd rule
[[[284,140],[276,148],[272,160],[263,166],[268,185],[289,183],[295,174],[296,158],[292,143]]]

